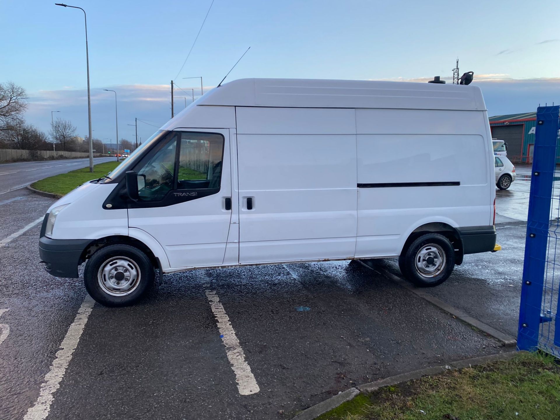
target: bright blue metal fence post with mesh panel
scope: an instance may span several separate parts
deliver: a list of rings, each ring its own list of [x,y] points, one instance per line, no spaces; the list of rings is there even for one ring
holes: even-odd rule
[[[540,106],[535,146],[517,347],[560,357],[560,106]]]

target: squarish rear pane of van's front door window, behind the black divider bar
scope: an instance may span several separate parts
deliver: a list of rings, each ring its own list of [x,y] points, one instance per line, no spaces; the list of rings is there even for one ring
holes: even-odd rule
[[[223,137],[212,133],[181,133],[178,190],[220,189]]]

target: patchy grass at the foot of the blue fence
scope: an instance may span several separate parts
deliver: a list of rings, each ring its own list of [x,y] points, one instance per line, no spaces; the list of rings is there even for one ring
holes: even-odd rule
[[[560,365],[519,353],[359,394],[318,420],[482,420],[560,418]]]

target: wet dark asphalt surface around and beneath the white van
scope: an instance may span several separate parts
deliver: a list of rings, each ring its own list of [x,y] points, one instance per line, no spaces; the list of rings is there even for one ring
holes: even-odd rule
[[[0,240],[52,201],[26,189],[1,194]],[[512,335],[526,225],[516,222],[520,212],[497,225],[503,251],[465,256],[430,290]],[[35,403],[86,295],[81,279],[44,272],[39,230],[0,248],[0,309],[9,309],[0,322],[10,325],[0,344],[3,420],[22,419]],[[394,260],[377,264],[400,276]],[[504,350],[380,273],[356,262],[195,270],[164,276],[136,306],[96,304],[48,419],[291,418],[353,385]],[[230,318],[259,393],[237,390],[208,288]]]

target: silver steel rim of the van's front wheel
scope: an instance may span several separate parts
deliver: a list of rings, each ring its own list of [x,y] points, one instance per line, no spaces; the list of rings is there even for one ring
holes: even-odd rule
[[[97,272],[97,283],[102,291],[111,296],[126,296],[140,284],[140,268],[125,256],[112,256]]]

